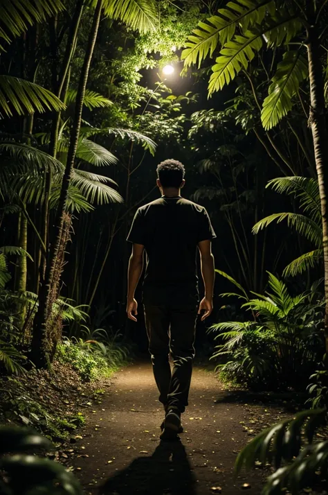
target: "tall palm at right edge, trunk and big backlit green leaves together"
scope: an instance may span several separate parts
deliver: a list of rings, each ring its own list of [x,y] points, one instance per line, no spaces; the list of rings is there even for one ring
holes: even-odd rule
[[[262,103],[261,120],[265,130],[270,130],[286,116],[293,107],[294,96],[298,96],[300,85],[309,79],[309,124],[322,218],[328,353],[328,132],[323,78],[327,15],[327,1],[229,1],[217,15],[199,23],[190,35],[182,57],[185,67],[188,67],[197,62],[200,64],[219,48],[208,86],[211,95],[228,85],[237,74],[248,76],[250,63],[262,49],[272,50],[278,63],[268,87],[268,96]]]

